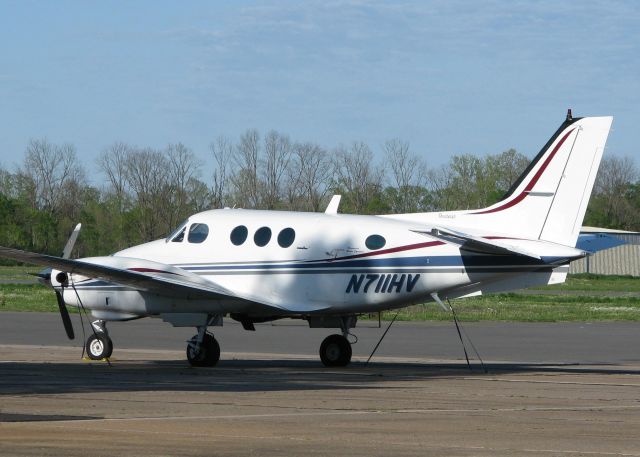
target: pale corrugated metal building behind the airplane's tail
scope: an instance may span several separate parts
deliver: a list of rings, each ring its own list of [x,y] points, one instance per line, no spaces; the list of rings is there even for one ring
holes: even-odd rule
[[[571,262],[569,274],[594,273],[640,276],[640,233],[598,227],[582,227],[580,233],[604,233],[621,239],[625,244]]]

